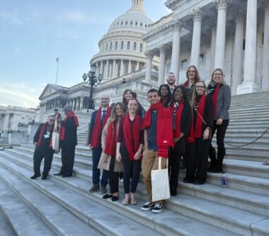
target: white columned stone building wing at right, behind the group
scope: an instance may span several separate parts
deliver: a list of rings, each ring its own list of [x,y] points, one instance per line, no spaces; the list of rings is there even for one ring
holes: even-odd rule
[[[269,1],[167,0],[173,13],[149,25],[142,39],[159,57],[159,84],[174,72],[185,82],[194,64],[201,78],[224,69],[232,94],[269,89]],[[150,65],[150,61],[149,61]]]

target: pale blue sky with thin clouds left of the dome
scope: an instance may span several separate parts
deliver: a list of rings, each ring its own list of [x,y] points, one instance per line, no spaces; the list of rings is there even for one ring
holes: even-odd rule
[[[82,82],[98,41],[131,0],[0,0],[0,105],[35,107],[47,83]],[[146,0],[158,21],[170,11],[164,0]]]

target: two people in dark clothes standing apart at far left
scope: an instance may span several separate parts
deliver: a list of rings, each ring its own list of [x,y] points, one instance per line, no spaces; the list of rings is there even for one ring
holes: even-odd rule
[[[42,172],[42,180],[47,179],[52,166],[52,158],[55,150],[52,148],[52,134],[59,133],[59,147],[62,150],[62,167],[55,176],[69,177],[73,174],[75,147],[77,145],[76,130],[79,126],[79,120],[71,109],[66,105],[63,108],[65,118],[61,119],[61,115],[57,108],[55,114],[47,118],[46,123],[39,125],[38,130],[33,137],[35,152],[33,154],[33,170],[34,175],[30,179],[37,179],[41,176],[40,164],[44,158],[44,168]]]

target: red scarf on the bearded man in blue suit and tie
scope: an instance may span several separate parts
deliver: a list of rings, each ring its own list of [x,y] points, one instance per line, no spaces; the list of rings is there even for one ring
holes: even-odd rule
[[[108,109],[105,113],[105,118],[103,119],[102,127],[101,127],[101,118],[102,118],[102,108],[99,108],[96,114],[96,120],[93,125],[93,133],[91,135],[91,147],[99,147],[100,146],[100,135],[103,131],[106,121],[110,117],[111,108],[108,106]]]

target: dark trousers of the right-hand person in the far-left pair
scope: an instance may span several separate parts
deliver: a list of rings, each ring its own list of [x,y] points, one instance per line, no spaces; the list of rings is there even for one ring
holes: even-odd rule
[[[60,173],[71,176],[74,167],[75,148],[76,146],[62,145],[62,168]]]

